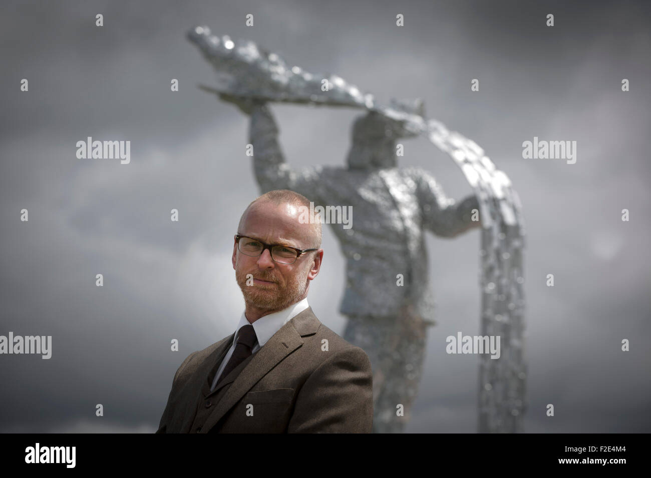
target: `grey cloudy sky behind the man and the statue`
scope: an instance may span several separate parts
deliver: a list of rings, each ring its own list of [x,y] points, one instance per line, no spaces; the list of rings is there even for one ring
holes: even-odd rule
[[[258,189],[244,155],[247,119],[196,88],[214,73],[185,38],[195,25],[337,73],[381,101],[423,98],[428,116],[480,144],[514,183],[527,226],[525,431],[651,431],[647,3],[0,8],[0,335],[53,337],[50,360],[0,357],[0,432],[155,431],[178,365],[237,324],[232,234]],[[254,27],[245,27],[248,13]],[[405,27],[395,26],[397,13]],[[473,78],[480,92],[470,91]],[[343,164],[357,111],[272,109],[291,165]],[[77,159],[87,136],[130,140],[131,163]],[[577,162],[523,159],[521,144],[534,136],[577,141]],[[407,143],[401,164],[430,170],[449,196],[471,193],[424,139]],[[23,208],[29,222],[20,222]],[[630,222],[620,220],[625,208]],[[342,333],[344,261],[324,231],[309,300]],[[438,325],[408,432],[477,429],[477,356],[446,354],[445,337],[479,333],[479,239],[476,230],[428,237]],[[104,287],[95,286],[99,272]],[[180,351],[170,351],[171,338]],[[620,351],[624,338],[630,352]]]

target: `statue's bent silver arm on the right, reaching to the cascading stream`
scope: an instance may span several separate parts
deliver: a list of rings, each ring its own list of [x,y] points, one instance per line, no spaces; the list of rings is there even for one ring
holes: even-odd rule
[[[480,221],[472,220],[473,209],[479,210],[475,194],[456,203],[446,196],[441,185],[430,174],[421,172],[415,180],[424,228],[441,237],[454,237],[481,226]]]

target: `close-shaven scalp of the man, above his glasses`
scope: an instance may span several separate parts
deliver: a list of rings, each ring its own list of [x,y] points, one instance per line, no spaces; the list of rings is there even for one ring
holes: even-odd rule
[[[275,207],[270,208],[270,206]],[[322,235],[320,217],[318,213],[315,213],[314,220],[304,224],[299,220],[299,217],[301,217],[301,209],[304,207],[309,209],[310,200],[302,194],[294,193],[294,191],[288,189],[269,191],[268,193],[255,198],[251,201],[249,206],[247,206],[242,213],[242,217],[240,217],[238,232],[245,233],[243,228],[245,226],[251,226],[251,224],[245,223],[247,222],[247,217],[251,215],[252,211],[255,211],[255,215],[258,215],[261,212],[268,213],[271,209],[275,210],[275,213],[279,214],[280,217],[283,217],[283,222],[296,228],[297,235],[302,237],[306,242],[302,245],[302,248],[320,248]],[[295,226],[293,224],[294,222],[296,223]]]

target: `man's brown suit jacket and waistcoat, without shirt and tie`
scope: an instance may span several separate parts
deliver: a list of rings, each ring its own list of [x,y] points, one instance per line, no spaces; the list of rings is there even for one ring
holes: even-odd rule
[[[370,360],[312,308],[210,392],[234,335],[189,354],[178,367],[156,433],[371,432]]]

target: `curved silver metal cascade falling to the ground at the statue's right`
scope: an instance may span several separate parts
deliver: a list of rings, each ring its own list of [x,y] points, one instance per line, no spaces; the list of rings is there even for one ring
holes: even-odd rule
[[[524,221],[518,194],[475,142],[428,122],[429,138],[454,159],[475,189],[482,242],[481,334],[501,337],[501,357],[480,356],[480,432],[523,432],[527,364],[524,352]]]

